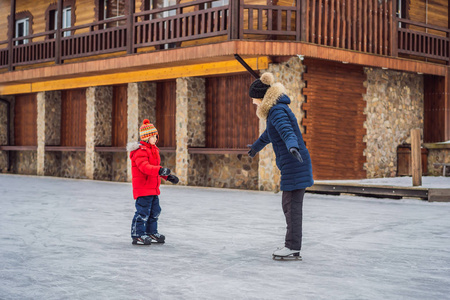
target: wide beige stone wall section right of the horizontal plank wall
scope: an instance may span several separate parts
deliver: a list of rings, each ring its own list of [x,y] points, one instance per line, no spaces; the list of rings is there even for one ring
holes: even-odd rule
[[[397,147],[410,144],[413,128],[423,131],[423,75],[365,68],[366,163],[368,178],[397,174]]]

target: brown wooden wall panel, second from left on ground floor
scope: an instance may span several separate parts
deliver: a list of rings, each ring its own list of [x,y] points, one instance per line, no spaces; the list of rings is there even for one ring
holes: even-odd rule
[[[61,91],[61,146],[86,147],[86,89]]]

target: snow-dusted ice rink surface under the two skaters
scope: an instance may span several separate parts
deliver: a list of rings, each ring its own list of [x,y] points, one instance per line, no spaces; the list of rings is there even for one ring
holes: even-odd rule
[[[306,194],[303,261],[273,261],[281,194],[163,186],[164,245],[129,183],[0,175],[0,299],[449,299],[450,203]]]

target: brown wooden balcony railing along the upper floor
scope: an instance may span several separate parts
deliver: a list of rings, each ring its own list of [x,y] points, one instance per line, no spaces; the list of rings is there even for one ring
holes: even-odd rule
[[[240,0],[199,10],[211,0],[196,0],[0,41],[0,68],[13,70],[17,66],[100,54],[183,47],[186,42],[205,38],[304,41],[380,55],[430,58],[448,64],[449,29],[398,19],[392,13],[396,10],[394,2],[296,0],[293,6],[277,6]]]

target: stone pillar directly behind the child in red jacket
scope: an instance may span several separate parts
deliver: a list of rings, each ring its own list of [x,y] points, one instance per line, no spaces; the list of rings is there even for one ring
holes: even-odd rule
[[[156,120],[156,83],[133,82],[128,84],[128,143],[139,141],[139,127],[144,119]],[[127,181],[131,182],[130,153],[127,153]]]

